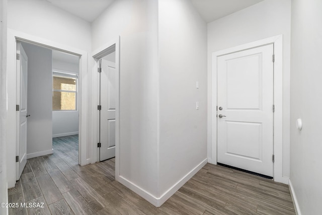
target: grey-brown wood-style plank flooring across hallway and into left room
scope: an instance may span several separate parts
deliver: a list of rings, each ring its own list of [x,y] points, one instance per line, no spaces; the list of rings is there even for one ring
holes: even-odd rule
[[[295,214],[287,185],[205,165],[161,207],[115,181],[115,159],[81,167],[77,135],[53,138],[54,154],[29,159],[9,202],[9,214]]]

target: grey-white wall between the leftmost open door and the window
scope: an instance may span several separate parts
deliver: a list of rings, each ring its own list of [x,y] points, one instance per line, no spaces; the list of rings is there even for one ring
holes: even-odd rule
[[[22,43],[28,56],[27,158],[52,153],[52,52]]]

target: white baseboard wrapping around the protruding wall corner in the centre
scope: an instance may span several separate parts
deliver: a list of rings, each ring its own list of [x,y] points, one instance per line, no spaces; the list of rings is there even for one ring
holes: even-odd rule
[[[200,164],[198,164],[195,168],[193,168],[189,173],[187,173],[183,178],[181,178],[177,183],[175,183],[169,190],[167,190],[164,194],[160,197],[156,197],[149,193],[148,191],[142,189],[141,187],[137,186],[136,184],[130,182],[123,176],[117,176],[116,180],[123,184],[124,186],[128,187],[130,190],[150,202],[156,207],[161,206],[165,203],[180,187],[182,187],[192,176],[194,176],[203,166],[207,164],[208,159],[206,158]]]

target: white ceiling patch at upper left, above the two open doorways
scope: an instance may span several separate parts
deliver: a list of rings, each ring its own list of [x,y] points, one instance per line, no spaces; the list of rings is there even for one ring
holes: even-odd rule
[[[46,0],[64,11],[93,22],[114,0]]]

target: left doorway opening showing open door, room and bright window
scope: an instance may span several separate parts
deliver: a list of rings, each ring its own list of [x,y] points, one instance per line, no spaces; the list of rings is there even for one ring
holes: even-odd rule
[[[25,165],[46,169],[58,158],[78,165],[78,74],[79,56],[17,42],[16,180]]]

